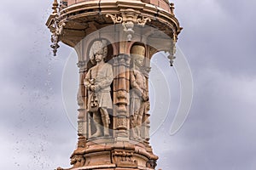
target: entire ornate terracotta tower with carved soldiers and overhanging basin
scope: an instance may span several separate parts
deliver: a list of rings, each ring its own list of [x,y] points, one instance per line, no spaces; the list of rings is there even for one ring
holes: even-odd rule
[[[78,135],[70,168],[152,170],[149,144],[150,59],[165,51],[173,64],[182,28],[167,0],[62,0],[46,25],[51,48],[78,55]],[[153,120],[154,121],[154,120]]]

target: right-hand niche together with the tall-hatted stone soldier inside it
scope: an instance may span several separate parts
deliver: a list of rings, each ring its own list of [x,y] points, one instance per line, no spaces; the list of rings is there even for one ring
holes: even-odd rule
[[[130,71],[131,82],[131,139],[144,141],[149,144],[149,110],[150,99],[148,96],[148,74],[150,62],[148,49],[145,45],[131,47],[132,65]]]

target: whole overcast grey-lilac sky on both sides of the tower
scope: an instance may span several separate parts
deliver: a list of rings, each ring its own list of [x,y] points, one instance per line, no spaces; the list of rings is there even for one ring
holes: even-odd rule
[[[180,131],[166,133],[177,109],[174,97],[170,114],[152,135],[158,168],[254,170],[256,1],[172,2],[184,28],[178,47],[188,59],[195,88]],[[51,3],[1,2],[1,169],[69,167],[75,149],[76,130],[61,95],[62,71],[72,49],[61,44],[58,55],[51,54],[45,26]],[[177,89],[173,83],[171,93]]]

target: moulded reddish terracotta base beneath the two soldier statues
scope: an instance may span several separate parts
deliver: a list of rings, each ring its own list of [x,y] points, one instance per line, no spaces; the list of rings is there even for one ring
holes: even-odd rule
[[[71,156],[73,167],[57,170],[115,169],[154,170],[158,156],[151,147],[138,141],[117,142],[113,139],[94,139],[78,147]]]

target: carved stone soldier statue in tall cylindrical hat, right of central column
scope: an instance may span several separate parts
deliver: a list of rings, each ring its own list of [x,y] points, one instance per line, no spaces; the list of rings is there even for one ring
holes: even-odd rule
[[[131,48],[133,68],[130,73],[131,81],[131,137],[134,139],[142,138],[143,116],[147,114],[148,84],[143,74],[145,48],[135,45]]]

